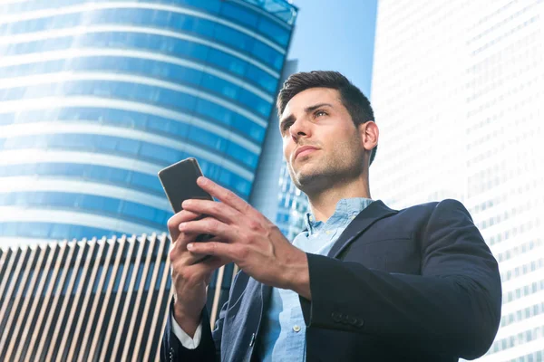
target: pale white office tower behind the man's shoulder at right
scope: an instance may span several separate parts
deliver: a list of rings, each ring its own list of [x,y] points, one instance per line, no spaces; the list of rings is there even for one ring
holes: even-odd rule
[[[544,358],[544,3],[381,1],[375,198],[457,198],[500,262],[500,330],[481,361]]]

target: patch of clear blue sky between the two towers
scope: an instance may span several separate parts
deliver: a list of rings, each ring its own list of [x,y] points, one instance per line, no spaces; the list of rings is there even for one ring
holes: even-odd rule
[[[378,0],[294,0],[296,29],[288,59],[298,71],[340,71],[370,94]]]

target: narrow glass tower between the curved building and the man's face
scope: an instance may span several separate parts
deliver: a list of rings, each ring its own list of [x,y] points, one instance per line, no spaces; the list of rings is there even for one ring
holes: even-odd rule
[[[296,60],[286,62],[280,83],[296,72],[297,63]],[[274,108],[270,114],[250,202],[270,221],[277,224],[289,240],[292,240],[295,232],[289,233],[289,230],[296,230],[296,233],[299,233],[304,227],[300,221],[302,214],[306,212],[307,198],[306,195],[301,195],[300,190],[291,182],[282,150],[279,119],[277,109]],[[296,203],[295,200],[300,201]],[[293,212],[293,205],[298,206],[298,212]]]

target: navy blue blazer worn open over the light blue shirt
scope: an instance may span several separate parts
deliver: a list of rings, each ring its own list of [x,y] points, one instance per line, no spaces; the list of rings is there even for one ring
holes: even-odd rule
[[[327,256],[307,253],[312,300],[300,297],[307,361],[458,361],[490,347],[500,322],[496,260],[460,202],[395,211],[375,201]],[[271,287],[239,271],[213,332],[183,348],[170,318],[163,361],[256,360]]]

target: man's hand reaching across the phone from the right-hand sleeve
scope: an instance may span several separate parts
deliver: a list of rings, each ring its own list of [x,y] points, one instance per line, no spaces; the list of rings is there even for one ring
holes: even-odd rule
[[[181,233],[215,235],[206,243],[188,243],[193,258],[213,255],[230,260],[248,275],[264,284],[296,291],[311,300],[306,253],[289,243],[275,224],[263,214],[206,177],[197,184],[221,201],[186,200],[183,209],[207,214],[201,220],[184,220]]]

